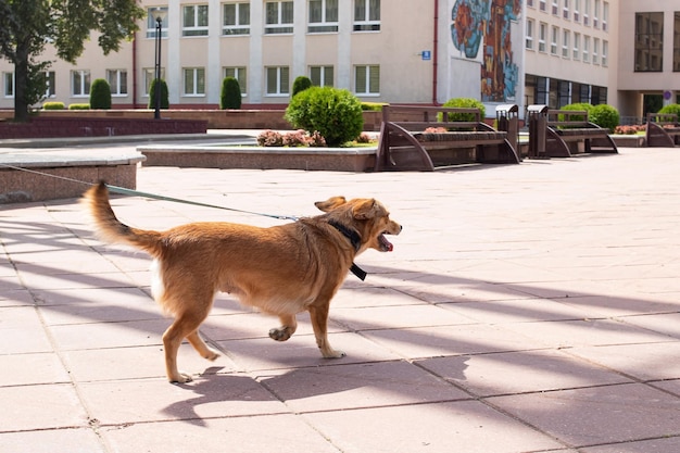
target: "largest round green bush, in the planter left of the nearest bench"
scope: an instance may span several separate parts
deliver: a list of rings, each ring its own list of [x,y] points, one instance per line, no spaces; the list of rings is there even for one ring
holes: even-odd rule
[[[354,140],[364,128],[362,103],[345,89],[311,87],[294,96],[285,118],[310,134],[318,131],[329,147]]]

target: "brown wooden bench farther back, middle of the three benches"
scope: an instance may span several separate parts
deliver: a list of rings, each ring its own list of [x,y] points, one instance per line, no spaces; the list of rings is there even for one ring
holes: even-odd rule
[[[618,153],[609,131],[588,121],[588,112],[530,105],[530,158],[570,158],[580,153]],[[538,137],[538,138],[537,138]]]

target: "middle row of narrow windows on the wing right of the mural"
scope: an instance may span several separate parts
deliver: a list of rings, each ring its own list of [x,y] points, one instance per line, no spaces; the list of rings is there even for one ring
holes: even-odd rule
[[[525,35],[525,47],[528,50],[534,48],[534,21],[527,20],[527,33]],[[547,24],[539,23],[538,51],[547,53]],[[564,59],[582,61],[583,63],[601,64],[608,66],[609,42],[605,39],[594,38],[580,33],[571,33],[567,28],[552,26],[550,33],[550,54],[562,55]]]

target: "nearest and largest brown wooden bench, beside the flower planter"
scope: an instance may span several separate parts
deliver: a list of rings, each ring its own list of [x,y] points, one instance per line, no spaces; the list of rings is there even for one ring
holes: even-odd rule
[[[461,114],[465,119],[456,121]],[[486,124],[479,109],[382,108],[376,172],[427,172],[465,163],[517,164],[519,158],[508,133]]]

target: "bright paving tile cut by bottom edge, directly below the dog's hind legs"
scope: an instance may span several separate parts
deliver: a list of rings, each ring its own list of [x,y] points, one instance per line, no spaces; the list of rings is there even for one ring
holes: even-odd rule
[[[117,453],[340,452],[303,420],[286,414],[126,425],[103,428],[100,435]]]

